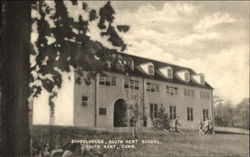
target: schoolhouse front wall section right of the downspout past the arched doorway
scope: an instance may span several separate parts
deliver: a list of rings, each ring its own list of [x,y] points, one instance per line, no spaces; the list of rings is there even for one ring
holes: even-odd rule
[[[212,91],[203,88],[185,86],[175,83],[162,82],[146,79],[146,82],[153,82],[160,85],[160,92],[145,91],[145,110],[146,114],[150,115],[150,103],[163,104],[166,112],[170,114],[170,106],[176,106],[176,115],[179,116],[179,122],[183,128],[197,128],[198,121],[203,120],[203,109],[209,110],[209,117],[212,117]],[[166,94],[166,86],[173,86],[178,88],[178,95]],[[195,91],[195,97],[185,96],[184,88]],[[207,91],[210,93],[210,99],[201,99],[200,91]],[[187,107],[193,108],[193,121],[187,120]],[[149,119],[149,118],[148,118]],[[151,123],[149,123],[151,124]]]

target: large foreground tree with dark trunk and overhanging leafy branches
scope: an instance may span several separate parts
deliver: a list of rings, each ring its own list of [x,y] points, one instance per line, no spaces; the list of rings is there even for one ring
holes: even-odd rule
[[[63,1],[54,3],[55,8],[49,7],[44,1],[1,2],[3,156],[29,156],[27,98],[30,95],[38,96],[44,88],[50,93],[49,105],[53,112],[53,98],[62,83],[61,72],[69,72],[71,66],[80,76],[81,70],[88,71],[88,75],[85,76],[88,82],[96,73],[106,68],[122,72],[127,68],[125,64],[120,65],[120,61],[126,58],[117,54],[116,50],[92,41],[87,35],[89,22],[98,20],[96,10],[89,9],[87,4],[83,3],[82,8],[89,18],[84,20],[80,15],[76,22],[69,17]],[[77,5],[77,1],[72,3]],[[41,17],[31,19],[31,8],[38,10]],[[56,26],[53,28],[46,20],[46,15],[52,11],[54,14],[51,15],[51,19]],[[107,2],[100,9],[98,27],[102,30],[101,35],[107,36],[112,45],[124,50],[126,44],[113,26],[114,13],[110,2]],[[39,33],[35,45],[30,44],[32,22],[37,24]],[[127,31],[129,27],[121,25],[117,28],[119,31]],[[54,38],[55,41],[48,43],[48,38]],[[30,65],[30,55],[35,56],[35,65]],[[33,75],[30,75],[31,73]]]

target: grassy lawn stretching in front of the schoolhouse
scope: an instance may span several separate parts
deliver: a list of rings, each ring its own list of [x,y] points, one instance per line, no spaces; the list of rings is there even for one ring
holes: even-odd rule
[[[49,142],[63,146],[71,139],[132,139],[129,132],[108,132],[74,127],[33,126],[33,145]],[[96,149],[104,156],[165,157],[165,156],[249,156],[249,135],[216,134],[200,135],[191,130],[185,134],[163,131],[139,131],[138,141],[159,140],[162,144],[135,144],[135,149]],[[120,145],[121,146],[121,145]]]

